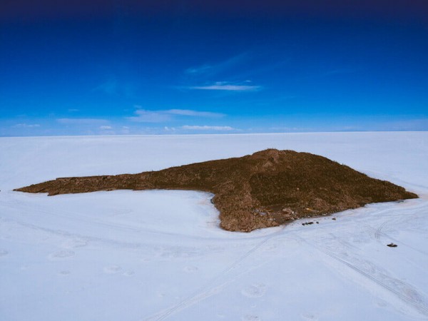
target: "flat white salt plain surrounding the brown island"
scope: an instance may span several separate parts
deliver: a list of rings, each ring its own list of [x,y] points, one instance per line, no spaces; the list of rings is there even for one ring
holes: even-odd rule
[[[421,198],[230,233],[207,193],[12,191],[265,148],[320,154]],[[426,132],[0,138],[0,151],[0,320],[428,319]]]

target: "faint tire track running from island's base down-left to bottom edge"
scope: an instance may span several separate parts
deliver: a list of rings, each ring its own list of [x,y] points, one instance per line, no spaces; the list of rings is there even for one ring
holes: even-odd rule
[[[279,235],[280,233],[282,233],[282,230],[284,230],[284,228],[285,226],[282,226],[282,228],[277,232],[267,235],[266,238],[264,238],[261,242],[257,243],[255,246],[253,246],[253,248],[251,248],[250,250],[248,250],[248,252],[246,252],[244,255],[238,258],[238,260],[235,260],[235,262],[233,262],[225,270],[220,272],[207,284],[205,284],[203,287],[200,287],[198,290],[193,292],[193,294],[189,295],[181,302],[178,302],[178,304],[173,305],[173,307],[163,310],[162,312],[158,312],[157,314],[152,315],[151,317],[148,317],[143,320],[156,320],[156,321],[165,320],[167,317],[175,315],[175,313],[180,312],[181,310],[184,310],[187,307],[190,307],[195,303],[200,302],[201,300],[205,300],[207,297],[210,297],[211,295],[217,294],[218,292],[220,292],[222,287],[224,287],[225,285],[233,281],[233,280],[225,280],[224,282],[220,282],[223,277],[227,276],[228,273],[235,270],[235,268],[240,263],[242,263],[246,258],[248,258],[250,255],[255,253],[255,251],[257,251],[259,248],[265,245],[267,241],[269,241],[276,235]],[[245,272],[248,272],[248,271],[245,271]],[[243,274],[243,273],[240,273],[240,274]]]

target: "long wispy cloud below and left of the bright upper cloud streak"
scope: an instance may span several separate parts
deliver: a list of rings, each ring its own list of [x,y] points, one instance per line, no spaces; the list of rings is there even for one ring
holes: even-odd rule
[[[223,113],[213,113],[210,111],[193,111],[190,109],[168,109],[161,111],[148,111],[146,109],[138,109],[133,117],[127,117],[128,121],[136,121],[140,123],[163,123],[171,121],[175,116],[188,117],[205,117],[205,118],[220,118],[225,116]]]

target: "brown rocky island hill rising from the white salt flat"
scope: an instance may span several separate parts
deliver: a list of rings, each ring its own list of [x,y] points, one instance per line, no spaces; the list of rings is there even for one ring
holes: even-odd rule
[[[57,178],[16,190],[58,195],[124,189],[214,193],[220,227],[241,232],[367,203],[417,198],[400,186],[325,157],[276,149],[139,174]]]

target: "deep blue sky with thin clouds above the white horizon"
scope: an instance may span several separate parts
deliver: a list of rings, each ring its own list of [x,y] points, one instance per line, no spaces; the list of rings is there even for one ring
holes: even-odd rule
[[[0,136],[428,130],[428,3],[0,4]]]

